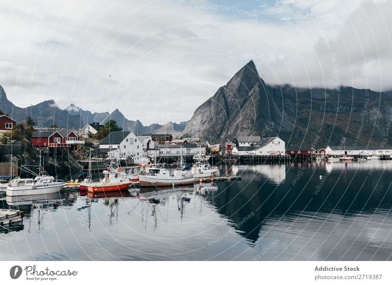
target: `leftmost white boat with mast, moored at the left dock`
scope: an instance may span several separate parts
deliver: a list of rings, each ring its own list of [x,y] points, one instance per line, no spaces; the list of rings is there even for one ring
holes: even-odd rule
[[[23,166],[29,173],[36,175],[33,178],[15,177],[12,179],[6,189],[7,196],[24,196],[24,195],[37,195],[49,194],[59,192],[65,186],[64,181],[55,181],[53,176],[50,176],[41,165],[38,174]]]

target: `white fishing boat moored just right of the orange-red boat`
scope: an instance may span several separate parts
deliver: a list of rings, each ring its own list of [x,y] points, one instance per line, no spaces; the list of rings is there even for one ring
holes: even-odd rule
[[[194,183],[194,176],[182,169],[175,169],[173,174],[169,169],[148,167],[139,174],[140,187],[178,186]]]

